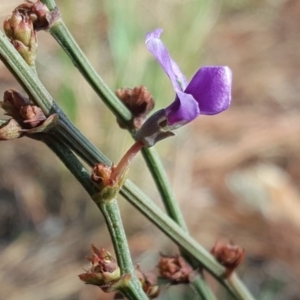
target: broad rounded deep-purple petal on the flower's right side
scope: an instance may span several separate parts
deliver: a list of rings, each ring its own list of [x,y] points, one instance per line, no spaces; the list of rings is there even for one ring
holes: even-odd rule
[[[214,115],[227,109],[231,101],[232,74],[228,67],[203,67],[185,89],[199,104],[200,114]]]

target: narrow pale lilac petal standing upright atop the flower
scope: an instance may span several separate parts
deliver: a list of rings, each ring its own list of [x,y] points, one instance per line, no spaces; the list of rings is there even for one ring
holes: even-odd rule
[[[147,33],[146,46],[147,49],[158,60],[164,71],[170,77],[175,91],[183,91],[187,86],[187,81],[181,73],[178,65],[172,60],[166,46],[160,40],[160,35],[163,32],[161,28]]]

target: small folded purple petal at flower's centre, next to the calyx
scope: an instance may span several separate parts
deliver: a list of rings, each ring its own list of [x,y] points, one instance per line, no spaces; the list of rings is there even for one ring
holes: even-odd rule
[[[177,92],[175,101],[165,108],[168,125],[172,129],[191,122],[200,114],[199,105],[192,95]]]

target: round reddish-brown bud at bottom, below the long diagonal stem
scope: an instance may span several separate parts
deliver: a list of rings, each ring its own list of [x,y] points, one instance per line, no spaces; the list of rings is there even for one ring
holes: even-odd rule
[[[164,256],[158,262],[161,277],[170,280],[174,284],[189,283],[193,273],[192,267],[182,256]]]

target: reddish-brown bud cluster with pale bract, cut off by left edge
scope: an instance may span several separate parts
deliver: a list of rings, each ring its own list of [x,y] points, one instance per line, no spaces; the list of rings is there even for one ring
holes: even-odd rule
[[[58,118],[56,114],[46,118],[38,106],[13,89],[4,92],[0,107],[11,117],[9,120],[0,121],[0,140],[45,132],[56,124]]]

